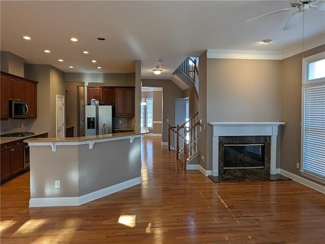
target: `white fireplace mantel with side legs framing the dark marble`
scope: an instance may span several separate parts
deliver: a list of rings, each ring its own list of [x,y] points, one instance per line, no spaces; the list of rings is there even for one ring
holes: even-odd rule
[[[212,126],[212,175],[219,176],[219,137],[271,136],[270,174],[276,174],[278,127],[284,122],[210,122]]]

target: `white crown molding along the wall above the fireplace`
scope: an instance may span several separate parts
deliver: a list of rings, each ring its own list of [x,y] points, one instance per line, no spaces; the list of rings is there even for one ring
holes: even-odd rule
[[[222,50],[208,49],[207,58],[236,58],[236,59],[270,59],[281,60],[280,51],[253,51],[253,50]]]

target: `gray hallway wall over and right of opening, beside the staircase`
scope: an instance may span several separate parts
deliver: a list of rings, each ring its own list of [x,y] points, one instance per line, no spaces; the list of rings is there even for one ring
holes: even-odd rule
[[[171,80],[142,79],[142,86],[163,87],[163,142],[167,143],[168,125],[175,125],[175,99],[182,98],[183,91]]]

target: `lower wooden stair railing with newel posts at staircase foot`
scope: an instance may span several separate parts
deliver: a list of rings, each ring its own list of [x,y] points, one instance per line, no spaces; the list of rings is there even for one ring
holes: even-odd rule
[[[168,149],[171,150],[172,147],[175,148],[176,146],[176,159],[179,159],[179,154],[182,153],[185,145],[190,144],[191,137],[190,134],[186,133],[186,131],[198,123],[198,115],[199,113],[194,114],[180,126],[168,126]]]

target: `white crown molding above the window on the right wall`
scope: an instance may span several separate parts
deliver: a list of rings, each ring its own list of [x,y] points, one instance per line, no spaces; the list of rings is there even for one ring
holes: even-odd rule
[[[313,38],[311,40],[306,40],[304,42],[304,45],[302,43],[300,43],[298,45],[295,45],[288,49],[283,50],[282,51],[282,59],[297,55],[299,53],[308,51],[312,48],[319,47],[324,44],[325,44],[325,34],[320,35],[320,36]]]

